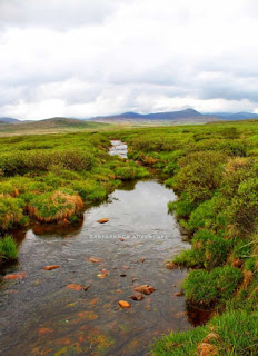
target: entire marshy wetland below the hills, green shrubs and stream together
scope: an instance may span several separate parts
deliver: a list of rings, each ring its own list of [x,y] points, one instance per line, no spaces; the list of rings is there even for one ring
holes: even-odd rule
[[[1,350],[257,355],[257,135],[250,121],[2,138],[1,235],[19,254],[2,255]]]

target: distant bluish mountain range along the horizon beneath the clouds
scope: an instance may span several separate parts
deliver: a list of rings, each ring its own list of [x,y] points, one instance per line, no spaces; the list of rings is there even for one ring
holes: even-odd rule
[[[99,121],[99,122],[151,122],[151,121],[172,121],[172,122],[211,122],[211,121],[235,121],[235,120],[248,120],[248,119],[258,119],[258,113],[251,112],[209,112],[209,113],[201,113],[194,109],[186,109],[181,111],[167,111],[167,112],[151,112],[151,113],[138,113],[138,112],[123,112],[119,115],[110,115],[110,116],[99,116],[89,119],[77,119],[77,118],[51,118],[48,120],[58,120],[59,125],[61,121],[66,120],[66,125],[68,120],[80,120],[80,121]],[[47,120],[40,121],[21,121],[13,118],[8,117],[0,117],[0,125],[24,125],[30,123],[30,126],[39,123],[37,122],[44,122]],[[57,122],[54,121],[54,125]]]

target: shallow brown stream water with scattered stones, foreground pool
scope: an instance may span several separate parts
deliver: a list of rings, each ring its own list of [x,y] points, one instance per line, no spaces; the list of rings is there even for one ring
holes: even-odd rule
[[[89,208],[77,226],[19,231],[19,261],[2,274],[27,277],[0,287],[2,354],[147,355],[153,338],[191,327],[185,298],[175,296],[186,271],[165,266],[189,248],[167,212],[175,199],[155,179],[138,181]],[[97,222],[106,217],[107,224]],[[43,270],[48,265],[60,268]],[[90,288],[73,290],[69,284]],[[141,301],[128,298],[133,286],[147,284],[156,291]],[[119,300],[131,308],[122,309]]]

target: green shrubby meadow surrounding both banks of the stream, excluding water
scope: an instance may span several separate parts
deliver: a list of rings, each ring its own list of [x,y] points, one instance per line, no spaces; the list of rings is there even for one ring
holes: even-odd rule
[[[110,139],[127,142],[128,160],[109,156]],[[168,209],[191,241],[171,259],[189,269],[186,300],[215,310],[205,326],[157,339],[152,355],[257,355],[256,120],[0,138],[2,258],[17,257],[13,228],[73,224],[123,180],[148,177],[148,167],[177,194]]]

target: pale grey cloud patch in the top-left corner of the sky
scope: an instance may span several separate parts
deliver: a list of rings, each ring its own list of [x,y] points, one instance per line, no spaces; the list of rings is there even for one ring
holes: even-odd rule
[[[1,0],[2,27],[51,27],[66,30],[103,22],[125,0]]]

